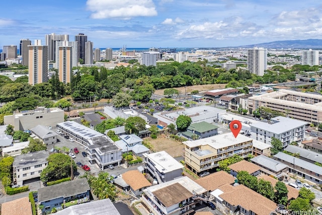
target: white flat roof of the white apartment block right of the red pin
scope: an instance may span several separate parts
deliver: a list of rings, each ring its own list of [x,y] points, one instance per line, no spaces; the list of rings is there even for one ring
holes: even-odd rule
[[[307,124],[307,122],[287,118],[284,116],[274,117],[271,119],[271,122],[273,121],[275,121],[275,123],[258,121],[255,124],[251,124],[251,126],[255,128],[263,129],[272,133],[280,134]]]

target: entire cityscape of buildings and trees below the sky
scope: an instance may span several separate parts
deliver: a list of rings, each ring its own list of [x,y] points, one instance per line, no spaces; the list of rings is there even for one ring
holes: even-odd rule
[[[45,38],[0,53],[2,215],[322,214],[318,50]]]

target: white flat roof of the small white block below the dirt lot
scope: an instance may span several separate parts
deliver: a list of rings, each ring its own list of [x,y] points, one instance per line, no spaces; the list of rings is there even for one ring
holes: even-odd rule
[[[171,155],[169,155],[165,151],[152,154],[144,154],[144,156],[149,158],[154,163],[154,167],[159,172],[167,173],[183,168],[182,164],[180,164],[176,159],[171,157]]]

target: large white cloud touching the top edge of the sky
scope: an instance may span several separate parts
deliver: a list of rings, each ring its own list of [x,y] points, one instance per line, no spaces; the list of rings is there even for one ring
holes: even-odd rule
[[[152,0],[88,0],[88,10],[93,19],[131,19],[132,17],[156,16]]]

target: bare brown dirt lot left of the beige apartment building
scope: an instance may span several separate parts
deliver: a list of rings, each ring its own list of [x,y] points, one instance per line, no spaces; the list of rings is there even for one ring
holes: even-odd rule
[[[166,151],[172,157],[184,156],[184,145],[176,140],[167,138],[165,135],[160,135],[156,139],[145,138],[153,147],[155,152]]]

